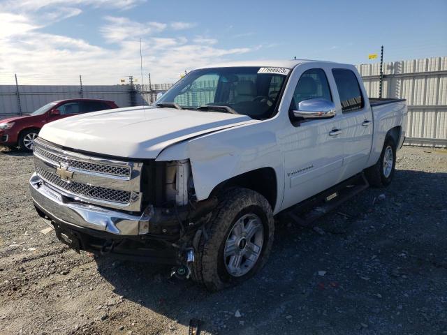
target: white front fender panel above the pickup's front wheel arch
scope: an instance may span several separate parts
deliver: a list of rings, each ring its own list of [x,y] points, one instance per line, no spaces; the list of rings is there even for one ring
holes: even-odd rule
[[[196,137],[166,148],[156,161],[189,158],[198,200],[207,199],[217,185],[232,177],[273,168],[277,176],[276,212],[284,194],[284,158],[275,133],[268,128],[268,122],[260,121]]]

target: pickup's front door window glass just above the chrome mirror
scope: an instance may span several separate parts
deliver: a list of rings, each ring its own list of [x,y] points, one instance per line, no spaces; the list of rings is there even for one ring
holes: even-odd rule
[[[322,98],[332,101],[328,77],[321,68],[311,68],[305,71],[298,80],[291,103],[291,110],[296,110],[301,101]]]

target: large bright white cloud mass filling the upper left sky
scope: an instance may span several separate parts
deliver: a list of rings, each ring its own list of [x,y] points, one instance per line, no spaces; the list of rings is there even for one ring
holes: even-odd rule
[[[98,3],[116,8],[117,3],[125,7],[140,2],[18,0],[15,7],[6,9],[5,3],[0,4],[0,82],[11,80],[17,73],[20,84],[78,84],[79,75],[86,85],[118,84],[126,75],[139,77],[140,37],[143,71],[150,72],[152,82],[159,83],[177,81],[178,73],[184,70],[226,61],[227,57],[257,48],[224,48],[209,36],[191,40],[179,36],[179,30],[194,27],[193,23],[135,22],[123,15],[103,17],[100,27],[91,31],[92,35],[102,36],[105,45],[91,42],[90,36],[69,37],[50,34],[48,29],[42,31],[54,22],[82,15],[88,6],[100,6]]]

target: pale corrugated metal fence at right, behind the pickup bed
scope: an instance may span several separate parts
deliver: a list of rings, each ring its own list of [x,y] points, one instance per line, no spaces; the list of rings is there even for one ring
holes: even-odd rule
[[[369,96],[379,96],[380,64],[357,66]],[[447,147],[447,57],[383,64],[383,98],[408,104],[407,144]]]

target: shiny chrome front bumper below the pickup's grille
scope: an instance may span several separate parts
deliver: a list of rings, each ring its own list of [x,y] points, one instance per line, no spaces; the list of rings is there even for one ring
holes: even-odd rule
[[[31,198],[52,220],[74,227],[90,228],[123,236],[147,234],[153,209],[140,216],[73,201],[43,183],[36,173],[29,179]]]

